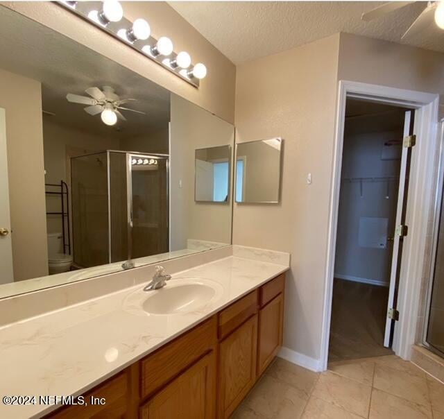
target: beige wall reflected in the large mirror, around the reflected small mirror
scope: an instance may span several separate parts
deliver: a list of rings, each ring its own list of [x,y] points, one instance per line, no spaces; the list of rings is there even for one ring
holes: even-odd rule
[[[187,248],[187,239],[230,243],[231,201],[194,201],[194,151],[232,146],[233,136],[234,127],[230,123],[171,95],[171,250]]]

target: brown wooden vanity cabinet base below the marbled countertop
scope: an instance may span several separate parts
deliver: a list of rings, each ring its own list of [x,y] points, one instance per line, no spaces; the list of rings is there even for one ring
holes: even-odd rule
[[[48,418],[228,418],[282,344],[282,273]],[[162,292],[162,290],[160,291]],[[139,415],[139,416],[138,416]]]

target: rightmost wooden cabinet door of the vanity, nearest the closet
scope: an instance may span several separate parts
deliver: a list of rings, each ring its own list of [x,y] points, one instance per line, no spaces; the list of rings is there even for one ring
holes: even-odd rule
[[[257,375],[273,361],[282,345],[284,295],[279,294],[259,310],[259,336],[257,348]]]

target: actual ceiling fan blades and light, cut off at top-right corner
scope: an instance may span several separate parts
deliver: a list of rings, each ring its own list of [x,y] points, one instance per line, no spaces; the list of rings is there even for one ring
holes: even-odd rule
[[[369,12],[363,13],[361,19],[365,22],[370,22],[370,20],[378,19],[387,13],[409,6],[411,3],[416,3],[416,1],[390,1],[370,10]],[[428,28],[433,22],[436,23],[438,28],[444,29],[444,1],[428,1],[427,7],[422,10],[413,24],[407,29],[406,33],[402,35],[401,39],[420,33]]]

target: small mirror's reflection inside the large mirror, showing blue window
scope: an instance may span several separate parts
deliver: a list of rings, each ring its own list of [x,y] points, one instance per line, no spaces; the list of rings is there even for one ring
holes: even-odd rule
[[[198,148],[196,150],[196,202],[229,202],[230,160],[230,146]]]

